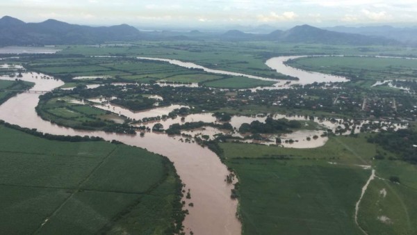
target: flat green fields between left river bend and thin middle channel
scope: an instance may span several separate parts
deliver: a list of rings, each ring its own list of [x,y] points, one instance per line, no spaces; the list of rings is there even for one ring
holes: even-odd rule
[[[51,63],[48,63],[49,60]],[[229,61],[228,63],[234,64],[235,62]],[[213,88],[254,88],[257,86],[270,86],[274,83],[273,81],[261,81],[243,76],[222,76],[199,70],[189,70],[161,61],[138,60],[134,58],[63,58],[61,56],[59,58],[29,60],[26,63],[26,67],[64,79],[68,84],[63,86],[63,88],[74,87],[78,84],[102,83],[104,80],[139,83],[151,83],[153,81],[203,83],[204,86]],[[244,71],[239,69],[236,72]],[[258,73],[256,72],[255,74]],[[266,76],[267,74],[264,75]],[[272,73],[269,75],[276,76],[276,74]],[[93,79],[91,81],[71,80],[75,76],[110,76],[110,78]]]

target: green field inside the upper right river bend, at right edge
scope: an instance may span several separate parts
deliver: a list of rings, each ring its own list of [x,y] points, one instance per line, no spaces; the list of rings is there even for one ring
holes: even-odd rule
[[[293,60],[291,66],[327,74],[357,76],[365,80],[417,79],[417,60],[404,58],[309,57]]]

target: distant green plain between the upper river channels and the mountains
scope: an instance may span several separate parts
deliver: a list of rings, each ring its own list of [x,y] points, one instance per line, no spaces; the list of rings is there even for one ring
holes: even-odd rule
[[[197,63],[218,70],[241,72],[259,76],[281,76],[265,65],[265,60],[286,55],[384,55],[408,56],[416,49],[406,47],[354,47],[325,44],[292,44],[276,42],[132,42],[124,47],[71,46],[58,54],[83,54],[88,56],[143,56],[171,58]]]

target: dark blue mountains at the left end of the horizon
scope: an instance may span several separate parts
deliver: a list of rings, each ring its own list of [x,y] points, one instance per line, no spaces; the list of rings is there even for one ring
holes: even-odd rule
[[[25,23],[8,16],[0,19],[0,32],[0,46],[97,44],[142,38],[142,33],[138,29],[127,24],[91,27],[68,24],[55,19],[41,23]]]

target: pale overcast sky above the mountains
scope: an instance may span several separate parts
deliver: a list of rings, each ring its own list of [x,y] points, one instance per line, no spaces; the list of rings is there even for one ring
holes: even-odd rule
[[[416,0],[0,0],[0,15],[24,22],[134,26],[335,26],[417,23]]]

